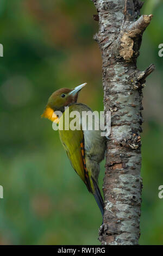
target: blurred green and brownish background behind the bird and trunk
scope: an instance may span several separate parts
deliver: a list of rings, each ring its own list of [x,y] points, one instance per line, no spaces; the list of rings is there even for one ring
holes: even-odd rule
[[[162,89],[163,2],[146,1],[154,14],[143,36],[138,68],[156,71],[143,90],[141,245],[163,244]],[[87,82],[79,100],[103,110],[101,53],[90,0],[1,0],[0,244],[98,245],[102,218],[73,171],[52,123],[40,115],[49,95]],[[104,176],[101,165],[100,185]]]

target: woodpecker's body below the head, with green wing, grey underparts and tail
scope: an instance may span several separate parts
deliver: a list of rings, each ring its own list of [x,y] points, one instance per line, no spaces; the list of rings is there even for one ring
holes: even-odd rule
[[[63,113],[59,126],[65,127],[65,115],[68,109]],[[91,111],[91,109],[82,103],[74,103],[69,107],[69,113],[77,111],[82,117],[83,111]],[[70,118],[70,123],[73,118]],[[103,214],[103,199],[98,188],[99,162],[104,158],[105,142],[101,136],[101,131],[83,131],[81,119],[76,118],[76,125],[81,130],[59,130],[59,136],[64,146],[67,156],[70,159],[73,169],[84,181],[87,189],[98,200],[99,208]],[[83,147],[81,147],[81,145]],[[84,150],[84,155],[82,151]],[[83,159],[84,158],[84,159]],[[85,163],[85,166],[84,166]]]

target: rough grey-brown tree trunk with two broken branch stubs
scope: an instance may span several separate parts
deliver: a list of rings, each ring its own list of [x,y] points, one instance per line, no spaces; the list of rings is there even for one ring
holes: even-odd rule
[[[105,213],[102,245],[137,245],[141,214],[142,88],[154,70],[136,66],[142,34],[153,15],[140,15],[139,0],[93,0],[102,52],[104,109],[111,111],[103,184]]]

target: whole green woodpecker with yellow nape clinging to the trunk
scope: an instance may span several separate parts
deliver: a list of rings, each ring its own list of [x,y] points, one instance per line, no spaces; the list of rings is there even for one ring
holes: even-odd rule
[[[84,86],[86,86],[86,83],[81,84],[74,89],[61,88],[54,92],[49,97],[45,111],[41,117],[48,118],[49,120],[58,123],[59,127],[60,124],[62,124],[62,127],[64,128],[67,109],[69,114],[71,114],[72,111],[77,111],[81,118],[83,111],[92,112],[88,106],[82,103],[77,103],[78,93]],[[68,108],[65,110],[65,107]],[[55,115],[56,111],[62,113],[60,118],[58,115]],[[80,130],[59,129],[59,137],[73,169],[80,176],[80,179],[84,181],[87,190],[95,197],[98,207],[103,215],[104,203],[98,187],[98,175],[99,163],[104,159],[105,155],[105,139],[101,136],[100,129],[82,129],[83,124],[81,118],[78,120],[81,127]],[[69,121],[71,121],[71,119],[72,118],[70,118]]]

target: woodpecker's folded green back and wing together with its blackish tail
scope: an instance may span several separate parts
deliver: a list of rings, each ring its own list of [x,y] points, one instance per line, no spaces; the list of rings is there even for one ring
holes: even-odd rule
[[[72,111],[82,111],[82,109],[90,110],[87,106],[84,105],[72,105]],[[66,110],[67,111],[67,110]],[[101,192],[99,190],[97,181],[92,177],[92,170],[89,168],[87,170],[86,161],[85,161],[85,145],[84,145],[84,132],[80,124],[80,117],[76,119],[76,123],[80,124],[80,130],[65,130],[65,113],[62,114],[59,119],[59,136],[62,145],[64,146],[67,156],[70,159],[73,169],[77,172],[80,178],[84,181],[87,190],[93,194],[98,204],[99,209],[104,214],[104,203]],[[71,118],[69,119],[69,124],[71,123]],[[76,125],[77,126],[77,125]],[[87,135],[89,136],[89,135]],[[87,143],[87,139],[86,139]]]

